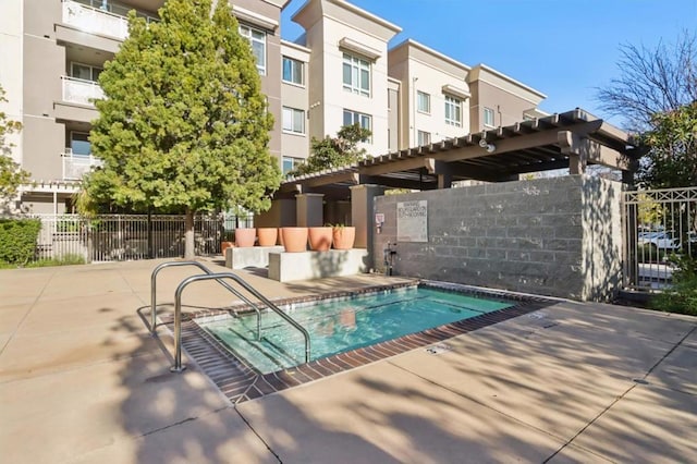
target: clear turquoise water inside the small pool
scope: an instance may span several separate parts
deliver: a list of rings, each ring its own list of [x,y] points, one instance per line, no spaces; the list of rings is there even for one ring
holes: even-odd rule
[[[512,306],[427,288],[407,288],[350,300],[326,301],[288,313],[310,333],[311,359],[319,359],[409,333]],[[234,355],[260,374],[304,363],[305,339],[273,312],[261,314],[256,341],[256,314],[197,320]]]

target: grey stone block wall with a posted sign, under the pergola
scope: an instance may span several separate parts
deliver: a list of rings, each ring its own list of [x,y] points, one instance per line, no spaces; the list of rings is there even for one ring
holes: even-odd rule
[[[585,175],[387,195],[376,269],[396,242],[398,202],[428,202],[428,242],[398,242],[393,272],[582,301],[621,283],[621,184]]]

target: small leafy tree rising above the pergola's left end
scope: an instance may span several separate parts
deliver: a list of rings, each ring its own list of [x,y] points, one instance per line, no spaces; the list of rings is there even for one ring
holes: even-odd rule
[[[370,137],[371,132],[358,124],[344,125],[335,137],[329,135],[321,141],[313,137],[311,155],[305,164],[298,166],[289,175],[309,174],[325,169],[339,168],[358,162],[366,156],[365,148],[358,148],[358,143]]]

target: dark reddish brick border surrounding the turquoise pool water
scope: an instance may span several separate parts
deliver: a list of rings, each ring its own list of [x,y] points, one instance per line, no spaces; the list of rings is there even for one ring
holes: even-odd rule
[[[290,369],[282,369],[271,374],[259,374],[244,362],[237,359],[232,353],[221,346],[220,342],[213,335],[204,330],[194,320],[217,315],[228,315],[231,310],[249,310],[247,305],[243,303],[225,308],[197,310],[185,315],[182,318],[182,346],[192,362],[213,381],[233,404],[237,404],[320,380],[334,374],[362,367],[412,350],[426,347],[433,343],[529,314],[557,303],[554,298],[543,296],[509,293],[493,289],[418,279],[395,284],[370,285],[352,291],[335,291],[309,296],[272,300],[272,303],[277,306],[284,306],[419,284],[467,295],[505,298],[511,301],[513,306],[480,314],[468,319],[450,322],[421,332],[402,335],[370,346],[311,361]],[[164,319],[163,322],[172,330],[173,320],[171,320],[171,318]]]

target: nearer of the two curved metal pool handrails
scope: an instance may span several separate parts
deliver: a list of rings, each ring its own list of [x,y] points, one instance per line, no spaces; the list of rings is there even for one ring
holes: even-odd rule
[[[182,366],[182,293],[184,289],[193,282],[204,281],[204,280],[220,280],[220,279],[232,279],[240,286],[245,289],[247,292],[252,293],[254,296],[259,298],[264,304],[266,304],[270,309],[285,319],[291,326],[299,330],[299,332],[305,338],[305,363],[309,363],[310,358],[310,345],[309,345],[309,332],[305,330],[303,326],[297,323],[295,319],[283,313],[278,306],[271,303],[266,296],[260,294],[256,289],[249,285],[247,282],[242,280],[239,276],[232,272],[220,272],[220,273],[207,273],[200,276],[192,276],[182,281],[176,288],[174,292],[174,366],[170,368],[172,373],[181,373],[186,369],[186,366]]]

